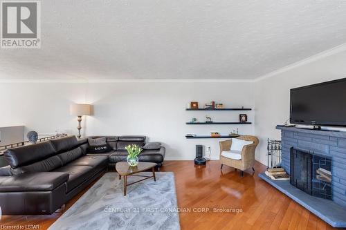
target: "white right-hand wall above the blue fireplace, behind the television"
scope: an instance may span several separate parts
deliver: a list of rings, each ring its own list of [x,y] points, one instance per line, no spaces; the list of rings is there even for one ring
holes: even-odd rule
[[[346,51],[322,54],[255,82],[255,135],[260,137],[256,159],[266,164],[266,140],[280,140],[277,124],[289,119],[291,88],[346,77]]]

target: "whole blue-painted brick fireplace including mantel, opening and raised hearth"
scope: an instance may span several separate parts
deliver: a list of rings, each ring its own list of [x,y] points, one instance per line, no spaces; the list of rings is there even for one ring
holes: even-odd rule
[[[290,180],[259,177],[333,227],[346,227],[346,132],[277,126]]]

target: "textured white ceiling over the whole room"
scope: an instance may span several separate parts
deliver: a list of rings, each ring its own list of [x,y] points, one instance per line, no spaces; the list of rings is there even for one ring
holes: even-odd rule
[[[254,79],[346,42],[346,1],[42,1],[0,79]]]

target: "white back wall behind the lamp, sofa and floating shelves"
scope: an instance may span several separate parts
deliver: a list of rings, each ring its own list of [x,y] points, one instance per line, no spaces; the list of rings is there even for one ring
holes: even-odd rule
[[[104,82],[104,83],[0,83],[0,126],[21,124],[40,134],[76,133],[72,103],[91,103],[94,115],[83,117],[84,135],[147,135],[167,147],[166,160],[194,159],[196,144],[210,145],[219,157],[219,139],[186,140],[185,133],[208,135],[212,131],[253,134],[254,125],[186,125],[191,117],[203,121],[239,120],[238,111],[185,111],[190,101],[210,101],[226,107],[253,108],[253,84],[246,82]],[[5,109],[6,108],[6,109]],[[243,113],[243,112],[240,112]],[[254,112],[246,111],[248,121]]]

